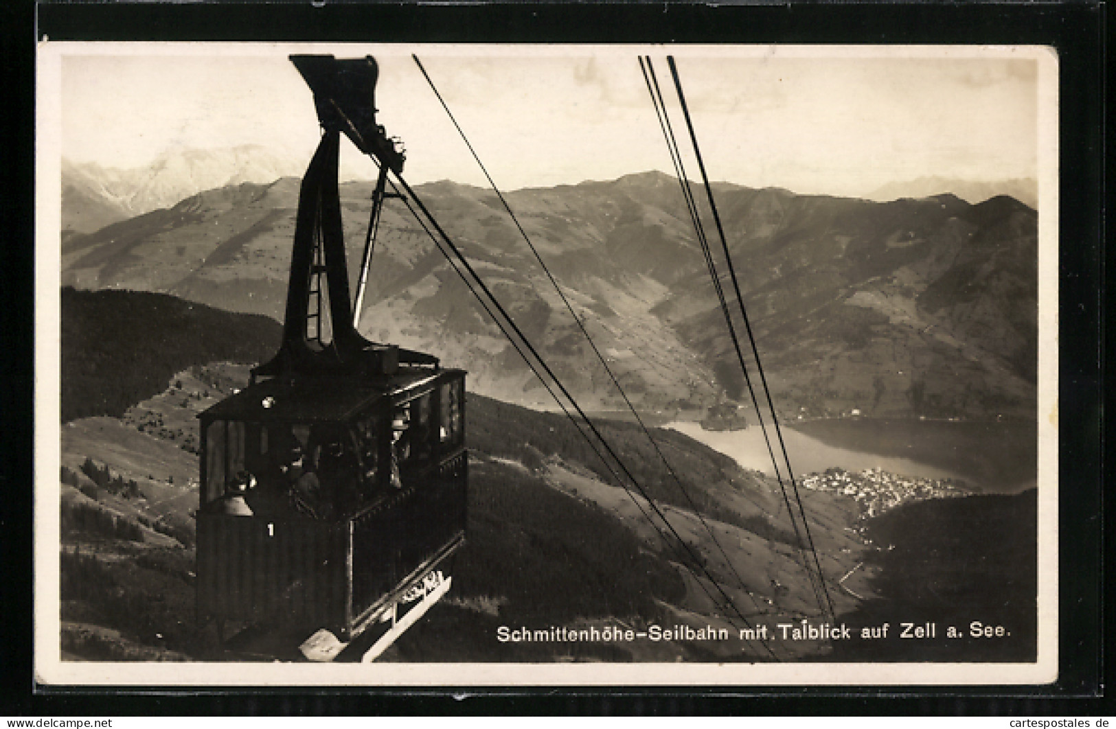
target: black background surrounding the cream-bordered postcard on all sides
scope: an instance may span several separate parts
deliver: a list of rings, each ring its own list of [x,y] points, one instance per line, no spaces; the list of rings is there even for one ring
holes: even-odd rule
[[[1098,698],[1103,630],[1101,405],[1105,7],[694,3],[368,6],[0,4],[4,134],[0,305],[0,715],[811,713],[1112,716]],[[1049,45],[1060,67],[1059,679],[1047,687],[463,689],[132,692],[36,687],[32,643],[35,45],[50,40]],[[461,698],[464,696],[465,698]]]

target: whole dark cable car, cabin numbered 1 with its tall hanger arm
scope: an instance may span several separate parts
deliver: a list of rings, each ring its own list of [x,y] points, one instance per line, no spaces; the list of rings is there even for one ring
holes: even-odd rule
[[[465,373],[358,333],[387,172],[404,154],[375,123],[374,59],[291,60],[323,135],[299,192],[280,349],[199,415],[198,612],[219,626],[350,638],[413,602],[464,541]],[[356,303],[337,191],[343,134],[381,166]]]

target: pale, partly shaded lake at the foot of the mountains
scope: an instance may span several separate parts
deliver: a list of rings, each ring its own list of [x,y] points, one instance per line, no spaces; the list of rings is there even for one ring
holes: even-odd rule
[[[664,427],[705,444],[745,468],[775,473],[758,426],[718,431],[680,421]],[[775,430],[769,428],[768,435],[781,463]],[[906,476],[955,478],[988,493],[1018,493],[1036,484],[1032,424],[835,419],[783,426],[782,436],[796,477],[839,466],[847,470],[881,468]]]

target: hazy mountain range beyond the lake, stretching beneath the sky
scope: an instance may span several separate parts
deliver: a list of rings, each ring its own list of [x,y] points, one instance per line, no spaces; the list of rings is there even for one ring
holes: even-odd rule
[[[202,177],[198,172],[195,178]],[[78,233],[75,224],[64,235],[62,281],[165,292],[281,319],[298,188],[294,177],[240,182],[89,233]],[[176,194],[155,184],[146,189],[147,197],[106,200],[140,210]],[[623,406],[496,195],[451,182],[416,192],[586,407]],[[715,194],[749,323],[783,417],[854,410],[878,417],[1033,417],[1033,208],[1008,196],[979,204],[949,194],[877,203],[723,183]],[[353,278],[371,195],[371,183],[341,185]],[[507,198],[637,406],[673,414],[727,399],[749,401],[676,179],[643,173],[521,189]],[[81,212],[75,200],[64,196],[64,221],[84,215],[87,226],[95,225],[88,212],[94,206]],[[723,278],[722,284],[731,295],[731,281]],[[469,369],[470,387],[479,392],[548,402],[395,201],[381,223],[360,321],[374,340],[431,351]],[[738,317],[743,331],[741,323]]]

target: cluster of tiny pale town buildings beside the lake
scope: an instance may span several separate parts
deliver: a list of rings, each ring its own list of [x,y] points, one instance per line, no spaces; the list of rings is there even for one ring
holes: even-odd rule
[[[802,486],[819,492],[837,492],[852,496],[860,505],[863,516],[879,516],[906,502],[931,498],[955,498],[973,492],[963,482],[952,479],[913,478],[879,468],[850,473],[840,467],[827,468],[802,479]]]

